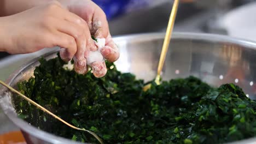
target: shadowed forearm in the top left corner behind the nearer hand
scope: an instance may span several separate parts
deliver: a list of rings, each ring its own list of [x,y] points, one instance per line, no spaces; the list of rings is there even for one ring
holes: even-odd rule
[[[0,16],[8,16],[30,9],[51,0],[0,0]]]

